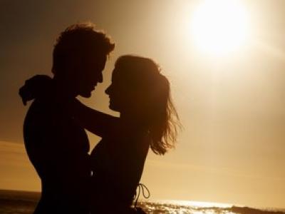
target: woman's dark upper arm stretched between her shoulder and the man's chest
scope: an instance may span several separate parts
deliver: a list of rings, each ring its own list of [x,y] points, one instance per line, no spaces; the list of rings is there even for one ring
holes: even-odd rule
[[[118,131],[118,117],[89,108],[77,99],[73,100],[70,106],[68,109],[74,119],[91,133],[103,137]]]

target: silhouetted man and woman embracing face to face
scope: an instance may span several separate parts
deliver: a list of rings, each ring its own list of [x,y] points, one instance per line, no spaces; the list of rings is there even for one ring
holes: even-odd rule
[[[34,76],[20,89],[34,100],[24,121],[28,157],[41,178],[34,213],[139,213],[132,206],[149,148],[174,147],[179,119],[170,83],[150,58],[120,56],[105,90],[110,116],[85,106],[115,48],[91,24],[63,31],[53,49],[53,78]],[[101,141],[89,152],[86,130]]]

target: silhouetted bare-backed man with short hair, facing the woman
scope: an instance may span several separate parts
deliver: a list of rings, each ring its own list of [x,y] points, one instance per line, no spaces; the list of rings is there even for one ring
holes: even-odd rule
[[[26,151],[41,178],[41,199],[34,213],[89,213],[88,137],[64,109],[78,95],[90,97],[102,83],[105,61],[114,47],[90,24],[70,26],[56,41],[51,84],[33,101],[24,121]]]

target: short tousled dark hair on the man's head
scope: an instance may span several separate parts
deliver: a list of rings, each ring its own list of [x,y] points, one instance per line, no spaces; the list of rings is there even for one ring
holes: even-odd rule
[[[56,39],[53,49],[53,73],[61,72],[73,57],[98,54],[108,56],[115,44],[102,31],[95,31],[94,24],[73,24]]]

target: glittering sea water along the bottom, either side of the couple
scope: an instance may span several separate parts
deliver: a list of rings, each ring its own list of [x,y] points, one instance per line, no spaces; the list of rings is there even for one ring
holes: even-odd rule
[[[30,214],[36,206],[40,193],[0,190],[0,214]],[[285,210],[261,210],[221,203],[202,203],[182,200],[157,200],[138,202],[146,213],[192,213],[192,214],[285,214]]]

